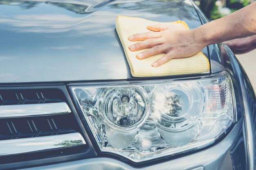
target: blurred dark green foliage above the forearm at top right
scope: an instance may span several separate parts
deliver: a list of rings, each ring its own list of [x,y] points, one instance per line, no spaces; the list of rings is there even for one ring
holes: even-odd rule
[[[238,9],[245,7],[254,0],[194,0],[209,20],[216,20]]]

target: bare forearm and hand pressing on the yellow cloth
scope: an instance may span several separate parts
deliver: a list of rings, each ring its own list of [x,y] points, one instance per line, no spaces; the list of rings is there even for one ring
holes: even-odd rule
[[[158,67],[173,58],[190,57],[205,46],[256,34],[256,2],[218,20],[211,21],[198,28],[186,30],[181,26],[157,24],[148,26],[155,32],[140,33],[128,37],[130,41],[140,41],[130,46],[137,51],[150,48],[137,54],[144,59],[154,54],[166,54],[152,65]]]

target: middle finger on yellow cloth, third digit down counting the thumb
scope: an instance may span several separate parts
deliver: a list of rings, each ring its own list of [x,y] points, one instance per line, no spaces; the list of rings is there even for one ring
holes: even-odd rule
[[[153,47],[153,46],[157,46],[161,43],[161,41],[157,38],[153,38],[153,39],[146,39],[144,41],[139,41],[135,44],[132,44],[131,46],[129,46],[129,49],[131,51],[137,51],[137,50],[141,50],[144,48],[149,48],[149,47]]]

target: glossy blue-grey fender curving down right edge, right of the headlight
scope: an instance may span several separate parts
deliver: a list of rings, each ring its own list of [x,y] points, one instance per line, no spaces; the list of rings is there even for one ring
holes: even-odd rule
[[[233,77],[238,119],[244,119],[243,133],[246,149],[246,169],[255,169],[256,164],[256,98],[242,66],[228,46],[219,44],[220,63]],[[242,163],[242,162],[240,162]]]

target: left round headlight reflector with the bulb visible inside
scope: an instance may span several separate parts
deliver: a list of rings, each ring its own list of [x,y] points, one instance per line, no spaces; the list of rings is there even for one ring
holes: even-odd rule
[[[148,116],[148,100],[148,94],[141,87],[106,88],[99,95],[98,109],[109,126],[128,130],[139,126]]]

